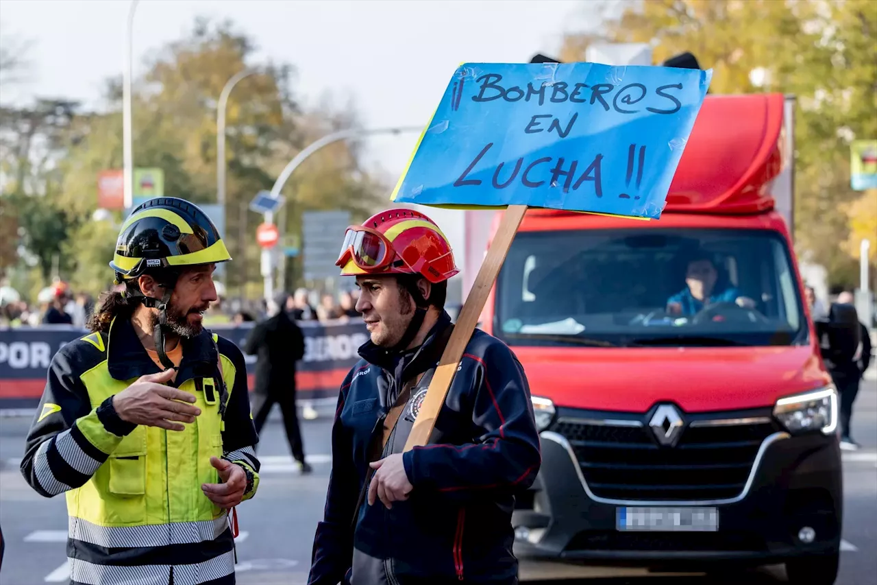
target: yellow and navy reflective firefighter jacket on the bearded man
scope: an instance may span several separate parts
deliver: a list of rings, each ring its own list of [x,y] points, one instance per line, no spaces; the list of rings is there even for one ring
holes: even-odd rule
[[[49,366],[21,471],[41,495],[66,493],[74,583],[163,585],[172,568],[175,583],[234,582],[227,512],[201,486],[218,482],[216,456],[252,475],[245,500],[258,488],[246,365],[233,343],[209,331],[182,343],[173,386],[201,409],[182,431],[125,423],[112,408],[114,394],[160,372],[130,321],[66,344]]]

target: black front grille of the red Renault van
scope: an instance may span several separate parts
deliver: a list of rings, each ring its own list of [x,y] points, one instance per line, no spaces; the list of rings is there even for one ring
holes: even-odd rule
[[[648,427],[560,420],[588,488],[624,501],[705,501],[743,491],[761,443],[774,424],[688,426],[674,447],[660,446]]]

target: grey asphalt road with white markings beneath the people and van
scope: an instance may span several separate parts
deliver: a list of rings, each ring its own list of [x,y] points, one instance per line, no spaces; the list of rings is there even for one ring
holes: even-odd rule
[[[276,409],[275,409],[276,416]],[[37,495],[18,472],[18,458],[30,419],[0,418],[0,525],[6,538],[0,585],[67,582],[64,498]],[[314,473],[300,476],[276,418],[262,433],[259,494],[238,509],[240,535],[237,567],[241,585],[296,585],[306,581],[317,520],[322,516],[329,475],[328,417],[303,422],[305,452]],[[853,415],[853,436],[861,451],[845,453],[844,553],[838,585],[877,584],[877,377],[869,372]],[[531,572],[531,569],[538,573]],[[562,567],[522,567],[522,577],[563,574]],[[578,569],[577,569],[578,570]],[[638,570],[587,569],[588,585],[707,585],[702,575],[646,575]],[[767,567],[745,580],[753,585],[784,581],[780,567]],[[731,582],[731,581],[728,581]]]

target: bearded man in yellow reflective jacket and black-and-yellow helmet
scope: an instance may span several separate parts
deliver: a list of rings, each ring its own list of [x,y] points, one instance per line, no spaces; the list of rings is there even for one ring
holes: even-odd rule
[[[124,293],[49,366],[21,471],[67,496],[74,584],[235,582],[229,510],[260,465],[243,354],[202,325],[228,260],[197,206],[146,201],[110,264]]]

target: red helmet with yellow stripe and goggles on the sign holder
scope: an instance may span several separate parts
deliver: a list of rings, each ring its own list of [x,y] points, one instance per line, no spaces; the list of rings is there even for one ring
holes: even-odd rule
[[[420,274],[431,283],[460,272],[439,226],[410,209],[388,209],[347,227],[335,265],[341,276]]]

